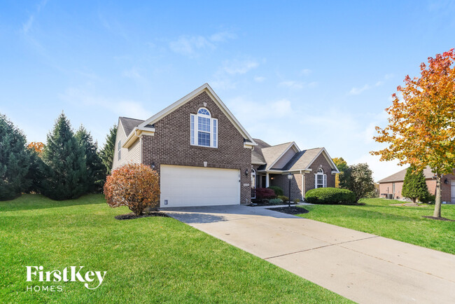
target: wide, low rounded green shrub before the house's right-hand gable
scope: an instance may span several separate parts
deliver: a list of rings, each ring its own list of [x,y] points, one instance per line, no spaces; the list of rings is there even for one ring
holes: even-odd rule
[[[311,204],[352,204],[356,195],[348,189],[316,188],[307,191],[305,200]]]

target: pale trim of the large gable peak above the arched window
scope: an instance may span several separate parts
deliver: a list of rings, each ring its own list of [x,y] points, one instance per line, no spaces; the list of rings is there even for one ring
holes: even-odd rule
[[[156,113],[155,115],[151,116],[151,118],[148,118],[141,124],[139,124],[139,127],[146,127],[146,125],[153,125],[156,123],[158,120],[161,118],[167,116],[169,113],[172,113],[176,109],[179,109],[180,106],[183,106],[183,104],[186,104],[189,102],[191,99],[196,97],[197,95],[200,95],[202,92],[207,92],[209,97],[215,102],[215,104],[221,109],[221,111],[225,114],[225,116],[230,120],[232,125],[236,127],[236,129],[240,132],[240,134],[244,137],[246,143],[250,146],[255,146],[256,143],[253,140],[253,138],[246,132],[244,127],[239,123],[237,118],[235,118],[234,115],[232,115],[231,111],[229,111],[228,107],[221,101],[220,97],[216,95],[214,90],[210,87],[208,83],[204,83],[204,85],[200,86],[193,92],[190,92],[188,95],[185,97],[182,97],[181,99],[177,100],[174,102],[174,104],[171,104],[170,106],[167,106],[165,109],[162,109],[162,111]]]

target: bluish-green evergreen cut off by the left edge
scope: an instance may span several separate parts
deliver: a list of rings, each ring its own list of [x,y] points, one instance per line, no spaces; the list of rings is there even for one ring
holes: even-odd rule
[[[29,153],[25,135],[0,114],[0,200],[10,200],[26,191]]]

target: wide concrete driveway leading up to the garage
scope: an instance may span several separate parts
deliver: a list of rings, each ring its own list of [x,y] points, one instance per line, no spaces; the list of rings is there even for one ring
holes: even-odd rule
[[[261,207],[163,210],[359,303],[455,303],[452,254]]]

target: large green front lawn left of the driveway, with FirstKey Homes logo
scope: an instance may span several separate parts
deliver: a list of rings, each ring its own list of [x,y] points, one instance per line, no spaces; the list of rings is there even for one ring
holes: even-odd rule
[[[172,218],[114,219],[103,195],[0,202],[0,303],[328,303],[345,298]],[[107,271],[98,289],[26,282],[26,265]],[[27,291],[59,285],[62,292]]]

